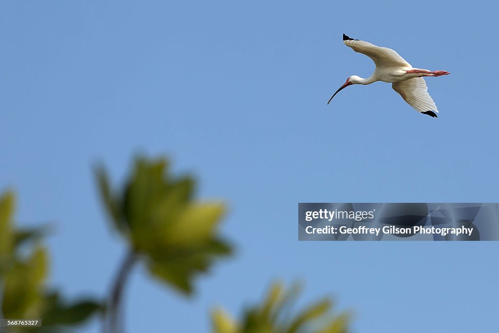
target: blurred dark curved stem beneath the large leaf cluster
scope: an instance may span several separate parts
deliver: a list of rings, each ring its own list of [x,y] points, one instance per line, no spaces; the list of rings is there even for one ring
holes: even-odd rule
[[[135,252],[133,250],[129,250],[123,262],[121,263],[118,274],[116,275],[116,278],[112,285],[111,293],[109,294],[107,320],[106,318],[104,318],[104,333],[119,332],[118,318],[120,313],[121,299],[123,296],[123,289],[125,288],[125,284],[128,280],[128,277],[130,276],[130,272],[136,260],[137,256]],[[109,331],[106,331],[106,324],[109,328]]]

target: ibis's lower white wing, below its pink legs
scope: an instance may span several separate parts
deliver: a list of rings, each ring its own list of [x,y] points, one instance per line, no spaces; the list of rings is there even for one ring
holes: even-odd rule
[[[392,88],[417,111],[428,115],[431,115],[431,111],[438,113],[437,106],[435,105],[432,96],[428,93],[424,78],[414,77],[405,81],[393,82]],[[436,116],[436,114],[434,116],[432,115],[432,117]]]

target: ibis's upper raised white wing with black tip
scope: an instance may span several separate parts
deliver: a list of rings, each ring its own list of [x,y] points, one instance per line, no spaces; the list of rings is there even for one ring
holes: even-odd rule
[[[412,67],[397,52],[388,47],[380,47],[367,41],[353,39],[343,34],[343,42],[351,47],[355,52],[367,55],[373,59],[377,67],[407,66]]]

